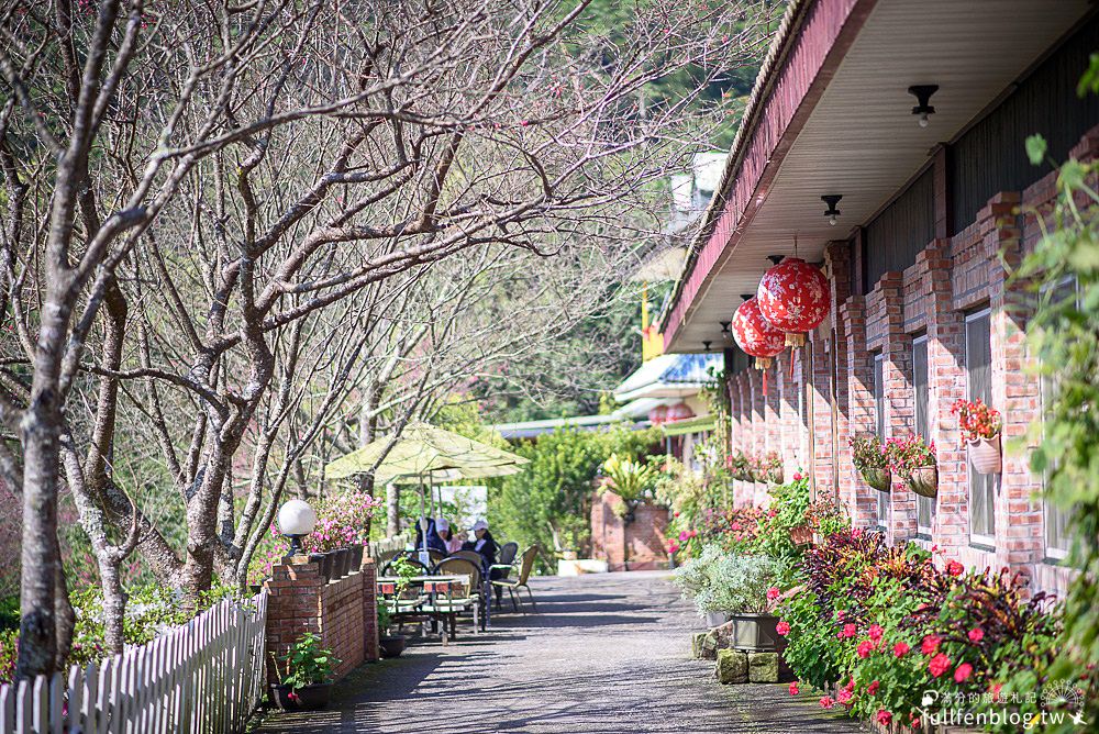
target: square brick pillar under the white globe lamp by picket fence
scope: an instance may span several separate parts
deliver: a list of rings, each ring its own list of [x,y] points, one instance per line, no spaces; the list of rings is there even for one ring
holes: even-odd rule
[[[306,556],[297,556],[306,558]],[[264,581],[267,589],[267,682],[277,683],[274,654],[282,658],[301,635],[307,632],[321,634],[321,578],[320,564],[278,565],[271,577]]]

